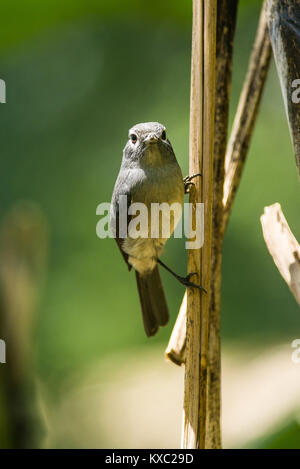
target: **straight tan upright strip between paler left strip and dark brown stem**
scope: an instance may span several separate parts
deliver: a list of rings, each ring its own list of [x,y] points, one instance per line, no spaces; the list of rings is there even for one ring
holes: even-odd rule
[[[208,402],[208,354],[210,331],[211,266],[213,246],[214,200],[214,123],[216,83],[217,0],[204,6],[204,112],[203,112],[203,196],[204,244],[201,249],[203,284],[207,294],[201,295],[201,357],[200,357],[200,435],[199,447],[206,448]],[[205,389],[206,387],[206,389]]]

